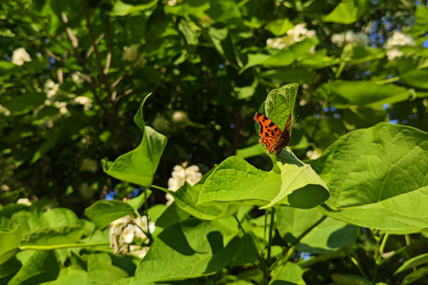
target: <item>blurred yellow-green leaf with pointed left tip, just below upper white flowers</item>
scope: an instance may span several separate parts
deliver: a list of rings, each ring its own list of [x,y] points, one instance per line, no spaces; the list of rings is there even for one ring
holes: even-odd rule
[[[249,53],[248,63],[239,71],[239,74],[252,66],[290,66],[294,60],[292,52],[287,50],[273,51],[272,54]]]

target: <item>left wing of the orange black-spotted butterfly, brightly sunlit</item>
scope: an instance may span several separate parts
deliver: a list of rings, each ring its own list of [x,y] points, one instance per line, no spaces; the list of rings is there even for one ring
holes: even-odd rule
[[[266,147],[267,152],[272,153],[277,145],[277,140],[280,139],[282,132],[275,123],[267,118],[262,113],[255,113],[254,120],[259,124],[260,140]],[[289,127],[290,128],[290,127]]]

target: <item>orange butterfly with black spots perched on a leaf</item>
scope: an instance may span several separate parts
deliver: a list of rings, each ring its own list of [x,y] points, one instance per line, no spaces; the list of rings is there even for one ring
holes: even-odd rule
[[[290,120],[291,113],[288,115],[287,123],[285,124],[284,130],[280,130],[275,123],[267,118],[262,113],[255,113],[254,120],[259,124],[260,130],[260,140],[259,142],[263,142],[265,144],[266,150],[269,153],[275,151],[275,155],[278,156],[282,149],[286,147],[291,140],[290,134]]]

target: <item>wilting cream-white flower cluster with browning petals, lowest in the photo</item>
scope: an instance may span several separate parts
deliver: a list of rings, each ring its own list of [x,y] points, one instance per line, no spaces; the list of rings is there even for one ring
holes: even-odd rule
[[[155,223],[149,222],[147,224],[143,218],[133,219],[129,215],[111,222],[109,237],[110,247],[114,250],[114,254],[132,254],[143,258],[148,248],[131,244],[134,238],[142,239],[144,243],[148,243],[148,237],[143,231],[153,233]]]

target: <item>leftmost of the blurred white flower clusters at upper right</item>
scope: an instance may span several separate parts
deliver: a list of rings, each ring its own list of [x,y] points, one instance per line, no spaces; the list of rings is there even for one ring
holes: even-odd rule
[[[305,38],[313,38],[317,35],[315,30],[308,30],[306,24],[297,24],[294,28],[287,31],[287,35],[278,38],[267,38],[266,44],[271,48],[283,49],[291,46],[293,43],[303,41]]]

